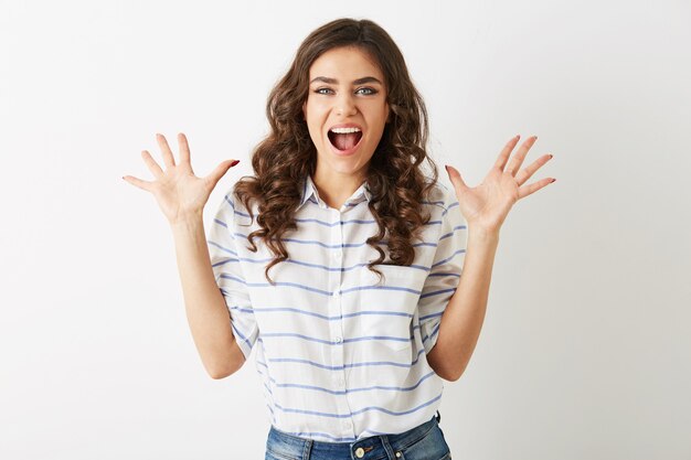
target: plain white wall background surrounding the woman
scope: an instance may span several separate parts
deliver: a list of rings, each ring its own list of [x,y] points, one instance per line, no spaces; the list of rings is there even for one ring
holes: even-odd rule
[[[347,15],[403,51],[444,183],[517,133],[554,154],[445,386],[454,459],[691,459],[690,3],[248,3],[0,1],[0,458],[264,458],[254,352],[205,374],[168,223],[121,176],[152,179],[156,132],[199,175],[240,159],[209,223],[297,46]]]

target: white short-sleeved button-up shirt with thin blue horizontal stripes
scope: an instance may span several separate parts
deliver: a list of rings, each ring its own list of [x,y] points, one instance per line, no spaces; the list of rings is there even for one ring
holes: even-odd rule
[[[328,206],[312,179],[304,181],[297,231],[284,234],[288,260],[273,258],[255,238],[259,228],[232,189],[210,226],[216,284],[245,359],[256,349],[270,422],[279,430],[328,442],[397,434],[428,421],[439,407],[443,379],[426,354],[458,281],[467,226],[453,190],[437,182],[424,210],[432,218],[414,240],[411,266],[366,268],[379,253],[366,244],[378,231],[366,182],[340,210]],[[390,260],[385,242],[380,247]],[[255,346],[257,344],[257,346]]]

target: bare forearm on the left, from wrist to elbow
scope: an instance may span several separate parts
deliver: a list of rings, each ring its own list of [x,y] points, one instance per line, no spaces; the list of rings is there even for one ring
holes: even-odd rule
[[[242,366],[225,299],[216,285],[202,215],[171,224],[188,322],[194,344],[214,378]]]

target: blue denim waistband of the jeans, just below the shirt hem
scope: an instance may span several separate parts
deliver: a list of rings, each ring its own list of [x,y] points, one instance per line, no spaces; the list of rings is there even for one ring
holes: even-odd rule
[[[382,453],[393,453],[395,451],[404,450],[407,446],[419,441],[433,428],[435,428],[440,420],[442,415],[437,411],[437,414],[428,421],[411,428],[407,431],[395,435],[370,436],[353,442],[328,442],[300,438],[284,432],[272,425],[267,446],[270,445],[274,449],[280,450],[280,453],[296,456],[300,459],[307,459],[309,457],[351,458],[350,453],[358,451],[359,448],[362,448],[360,452],[365,453],[374,453],[373,450],[378,450]],[[368,456],[368,458],[372,457]]]

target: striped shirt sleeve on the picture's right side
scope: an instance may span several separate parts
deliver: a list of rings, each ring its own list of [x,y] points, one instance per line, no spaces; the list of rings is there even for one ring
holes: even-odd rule
[[[418,301],[419,331],[425,353],[429,353],[437,343],[442,314],[460,281],[466,256],[468,226],[458,206],[456,192],[440,188],[444,191],[444,204],[437,247]]]

